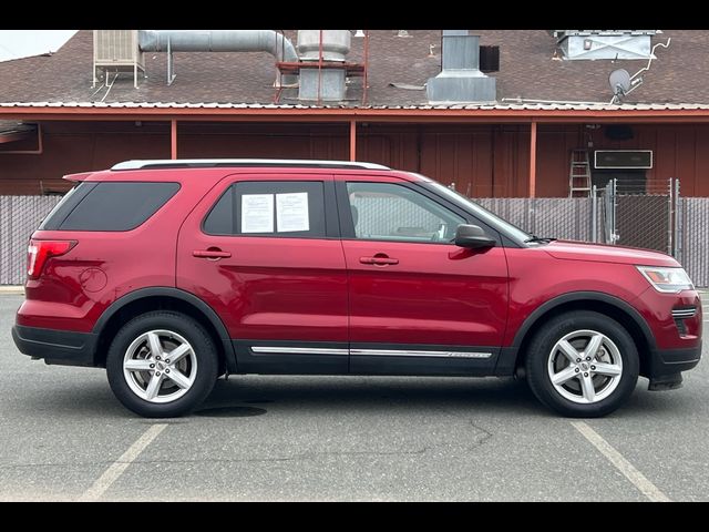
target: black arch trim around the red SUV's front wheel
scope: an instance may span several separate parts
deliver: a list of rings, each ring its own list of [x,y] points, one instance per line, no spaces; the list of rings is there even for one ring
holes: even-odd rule
[[[640,375],[647,375],[650,350],[655,349],[653,331],[640,314],[617,297],[599,291],[574,291],[557,296],[540,305],[522,324],[510,348],[503,349],[504,359],[499,368],[508,368],[513,374],[524,368],[527,346],[537,328],[549,319],[569,310],[594,310],[604,314],[626,328],[633,337],[640,358]],[[500,374],[500,371],[497,371]]]

